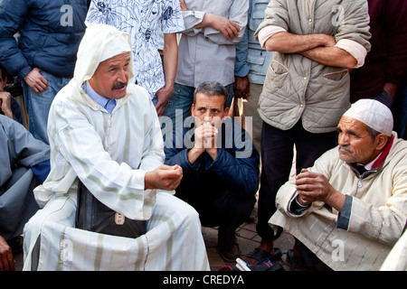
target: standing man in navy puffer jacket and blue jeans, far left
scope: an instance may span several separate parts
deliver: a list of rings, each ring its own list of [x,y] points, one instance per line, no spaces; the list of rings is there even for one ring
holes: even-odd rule
[[[30,132],[47,144],[48,112],[73,76],[89,5],[90,0],[0,2],[0,62],[23,80]]]

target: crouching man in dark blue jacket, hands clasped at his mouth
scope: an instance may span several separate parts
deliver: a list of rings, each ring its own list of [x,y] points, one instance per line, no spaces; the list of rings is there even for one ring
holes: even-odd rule
[[[185,119],[182,135],[175,127],[165,152],[166,164],[183,168],[175,196],[198,211],[203,226],[219,226],[218,251],[232,262],[241,253],[236,228],[249,218],[256,201],[260,158],[250,135],[227,117],[226,98],[227,90],[218,82],[195,89],[192,117]]]

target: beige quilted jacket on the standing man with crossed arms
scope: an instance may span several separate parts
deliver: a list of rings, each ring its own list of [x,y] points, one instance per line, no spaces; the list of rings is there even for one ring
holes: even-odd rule
[[[369,15],[365,0],[271,0],[256,36],[267,25],[289,33],[333,35],[336,42],[353,40],[370,50]],[[260,117],[287,130],[302,119],[311,133],[336,130],[350,106],[349,73],[297,54],[273,53],[259,100]]]

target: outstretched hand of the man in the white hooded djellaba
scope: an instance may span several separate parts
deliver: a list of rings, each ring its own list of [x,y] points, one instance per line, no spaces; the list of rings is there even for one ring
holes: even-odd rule
[[[183,169],[179,165],[160,165],[151,172],[146,172],[145,188],[166,191],[175,190],[183,178]]]

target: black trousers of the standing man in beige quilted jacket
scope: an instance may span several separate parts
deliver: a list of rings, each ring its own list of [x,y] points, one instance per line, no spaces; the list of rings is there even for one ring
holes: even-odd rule
[[[258,202],[257,232],[260,238],[273,240],[275,232],[269,220],[276,209],[279,188],[289,181],[294,145],[296,147],[296,171],[310,167],[317,158],[336,145],[336,132],[312,134],[304,129],[301,120],[289,130],[263,123],[261,132],[261,177]],[[276,236],[277,238],[278,236]]]

